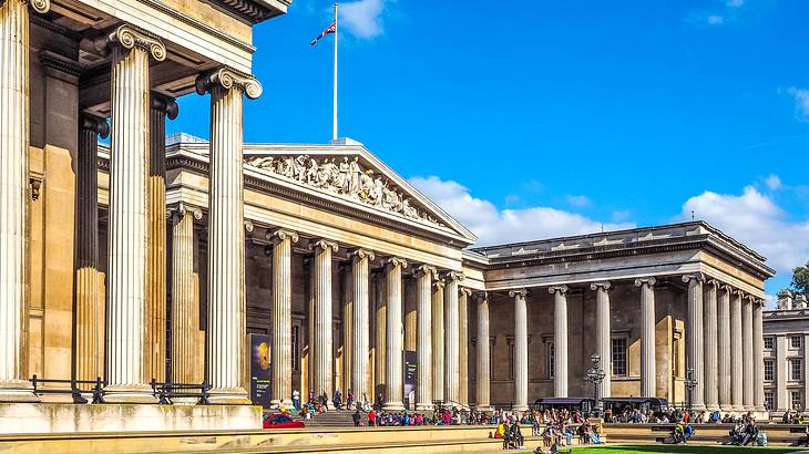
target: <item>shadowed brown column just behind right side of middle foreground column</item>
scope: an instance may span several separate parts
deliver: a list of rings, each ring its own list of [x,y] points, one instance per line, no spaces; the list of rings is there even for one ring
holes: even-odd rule
[[[177,117],[177,103],[152,93],[149,158],[149,292],[146,297],[146,381],[166,376],[166,116]]]

